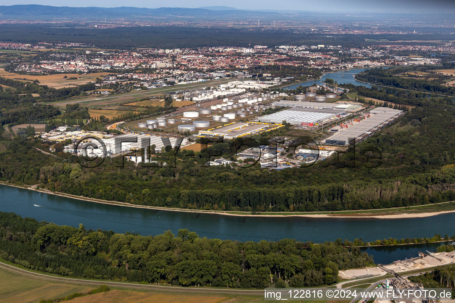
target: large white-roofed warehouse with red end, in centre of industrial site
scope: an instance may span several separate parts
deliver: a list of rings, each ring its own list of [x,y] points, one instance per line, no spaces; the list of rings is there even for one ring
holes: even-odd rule
[[[326,119],[336,117],[337,115],[344,114],[344,110],[339,109],[311,109],[311,108],[292,108],[284,109],[282,111],[268,114],[259,117],[261,122],[268,123],[281,123],[286,121],[293,125],[306,125],[313,126],[316,123],[322,122]]]

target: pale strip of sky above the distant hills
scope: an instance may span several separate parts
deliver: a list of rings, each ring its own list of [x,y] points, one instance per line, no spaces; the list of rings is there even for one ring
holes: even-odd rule
[[[454,12],[455,0],[0,0],[0,5],[40,4],[72,7],[189,7],[230,6],[238,9],[366,11],[366,12]],[[455,17],[454,17],[455,20]]]

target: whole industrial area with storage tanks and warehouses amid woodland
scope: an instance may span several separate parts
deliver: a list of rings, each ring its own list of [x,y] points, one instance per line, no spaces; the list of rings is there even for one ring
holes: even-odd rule
[[[91,157],[104,156],[102,146],[96,139],[86,139],[76,149],[73,146],[87,135],[102,139],[106,156],[111,157],[147,149],[150,145],[154,145],[157,152],[167,145],[197,151],[199,140],[204,137],[230,140],[283,128],[293,131],[284,132],[283,143],[303,143],[298,138],[305,136],[317,138],[319,147],[316,149],[319,150],[315,150],[315,146],[308,148],[305,144],[297,149],[286,144],[271,144],[245,147],[230,159],[218,159],[224,165],[227,162],[223,161],[250,164],[254,161],[263,168],[285,169],[323,161],[337,151],[345,150],[349,144],[368,138],[404,114],[397,109],[341,99],[340,92],[327,90],[324,95],[318,95],[312,91],[323,88],[320,86],[312,87],[304,94],[292,95],[268,89],[272,85],[253,80],[231,81],[211,90],[171,92],[169,96],[177,102],[188,98],[197,101],[169,114],[110,125],[111,129],[121,132],[119,135],[80,129],[68,131],[61,127],[37,136],[53,142],[68,143],[71,140],[65,151],[76,154],[81,153],[84,144],[90,143],[83,155]],[[127,159],[135,163],[149,161],[147,154]],[[211,160],[207,164],[219,165],[219,161]]]

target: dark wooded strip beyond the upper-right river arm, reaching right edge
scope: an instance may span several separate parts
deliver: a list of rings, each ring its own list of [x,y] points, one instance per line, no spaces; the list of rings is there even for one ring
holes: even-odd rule
[[[355,75],[355,79],[362,82],[392,86],[399,89],[419,90],[427,93],[449,94],[452,96],[455,94],[455,87],[440,85],[439,83],[427,81],[425,79],[395,76],[396,74],[401,74],[410,70],[415,70],[415,67],[392,67],[389,69],[375,68],[365,70]]]

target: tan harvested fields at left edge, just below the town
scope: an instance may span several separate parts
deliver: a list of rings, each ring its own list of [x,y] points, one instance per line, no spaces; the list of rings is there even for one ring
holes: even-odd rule
[[[87,84],[89,82],[95,82],[96,78],[102,78],[103,76],[112,74],[112,73],[91,73],[86,75],[79,75],[79,74],[52,74],[52,75],[45,75],[45,76],[31,76],[31,75],[18,75],[14,73],[8,73],[6,75],[5,70],[0,69],[0,76],[8,79],[28,79],[30,82],[33,82],[35,79],[40,81],[40,85],[47,85],[49,87],[53,87],[55,89],[61,89],[64,87],[76,87],[77,85]],[[4,75],[5,74],[5,75]],[[64,78],[64,77],[67,78]],[[70,80],[68,78],[78,78]]]

